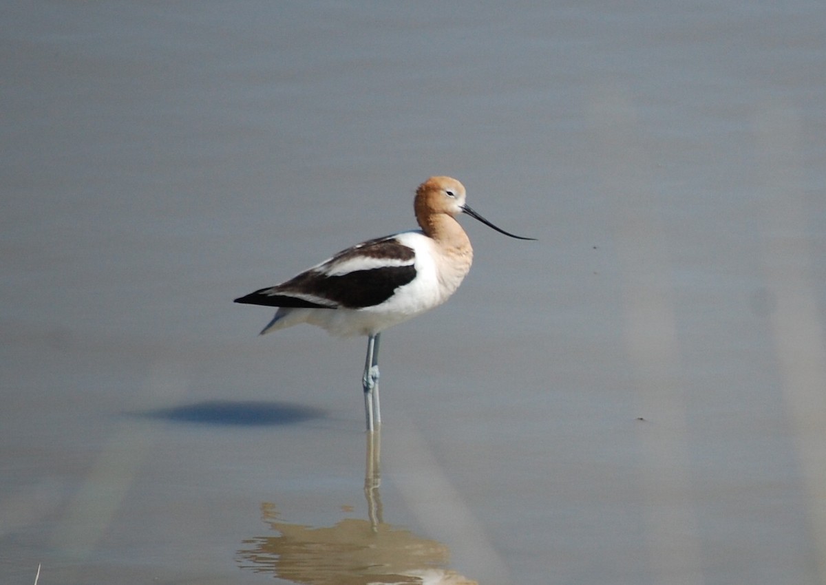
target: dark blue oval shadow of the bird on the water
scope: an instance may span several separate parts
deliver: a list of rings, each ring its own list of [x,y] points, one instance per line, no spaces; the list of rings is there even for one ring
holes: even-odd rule
[[[164,421],[215,426],[284,426],[325,418],[320,408],[289,402],[210,400],[135,413]]]

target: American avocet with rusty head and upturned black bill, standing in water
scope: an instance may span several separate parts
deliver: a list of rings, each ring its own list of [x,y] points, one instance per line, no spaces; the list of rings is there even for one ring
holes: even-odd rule
[[[367,428],[381,424],[378,401],[378,340],[387,327],[442,304],[470,270],[473,249],[456,216],[467,213],[494,226],[465,203],[455,178],[431,177],[416,189],[413,204],[420,230],[402,231],[342,250],[330,259],[274,287],[235,302],[278,307],[261,335],[299,323],[333,335],[367,335],[362,377]]]

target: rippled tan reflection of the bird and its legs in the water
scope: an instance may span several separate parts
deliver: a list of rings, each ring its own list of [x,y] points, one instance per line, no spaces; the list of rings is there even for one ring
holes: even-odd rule
[[[239,551],[241,567],[306,585],[477,585],[445,568],[450,555],[447,546],[385,524],[379,493],[380,440],[378,432],[367,434],[364,495],[368,520],[344,518],[334,526],[301,526],[279,521],[275,506],[265,502],[262,518],[279,535],[244,540],[246,548]]]

